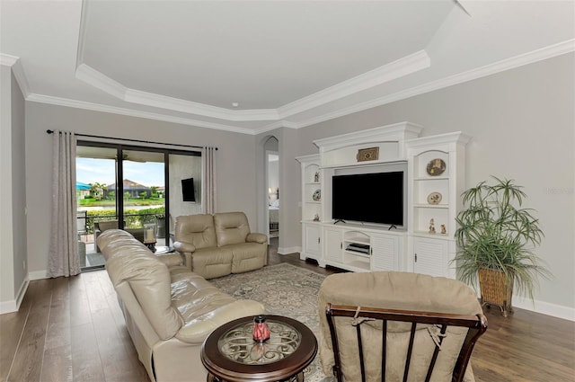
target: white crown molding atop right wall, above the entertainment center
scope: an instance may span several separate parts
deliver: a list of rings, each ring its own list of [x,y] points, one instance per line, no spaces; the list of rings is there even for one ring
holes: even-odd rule
[[[448,86],[453,86],[455,84],[463,84],[465,82],[473,81],[478,78],[491,76],[498,74],[500,72],[504,72],[509,69],[514,69],[516,67],[523,67],[528,64],[533,64],[535,62],[542,61],[544,59],[562,56],[564,54],[571,53],[573,51],[575,51],[575,39],[562,41],[560,43],[550,45],[549,47],[545,47],[543,49],[537,49],[532,52],[516,56],[514,58],[503,59],[494,64],[486,65],[484,67],[478,67],[454,76],[447,76],[445,78],[440,78],[436,81],[431,81],[427,84],[415,86],[410,89],[403,90],[401,92],[388,94],[383,97],[379,97],[367,102],[359,102],[345,109],[328,112],[308,120],[303,120],[297,123],[297,128],[301,129],[307,126],[324,122],[326,120],[334,120],[336,118],[343,117],[352,114],[354,112],[365,111],[367,109],[372,109],[377,106],[382,106],[391,102],[401,101],[423,93],[433,92],[435,90],[439,90]]]

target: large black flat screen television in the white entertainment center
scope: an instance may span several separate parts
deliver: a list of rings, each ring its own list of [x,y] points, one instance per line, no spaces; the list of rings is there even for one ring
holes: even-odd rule
[[[403,226],[403,171],[332,177],[332,218]]]

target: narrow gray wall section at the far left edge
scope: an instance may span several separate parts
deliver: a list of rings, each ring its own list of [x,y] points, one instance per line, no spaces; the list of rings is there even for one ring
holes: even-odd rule
[[[0,66],[0,312],[15,310],[27,282],[24,98],[11,67]]]

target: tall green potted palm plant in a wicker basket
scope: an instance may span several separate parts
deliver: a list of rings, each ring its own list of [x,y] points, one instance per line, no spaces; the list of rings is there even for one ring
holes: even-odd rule
[[[534,300],[537,277],[550,273],[533,252],[544,233],[534,210],[522,208],[526,193],[513,180],[492,178],[494,184],[483,181],[462,194],[454,261],[460,280],[474,285],[478,277],[482,304],[507,316],[514,286]]]

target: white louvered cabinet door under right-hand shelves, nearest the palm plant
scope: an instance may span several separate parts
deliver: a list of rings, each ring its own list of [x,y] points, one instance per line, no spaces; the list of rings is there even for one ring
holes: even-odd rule
[[[413,271],[431,276],[450,277],[447,240],[413,238]]]

